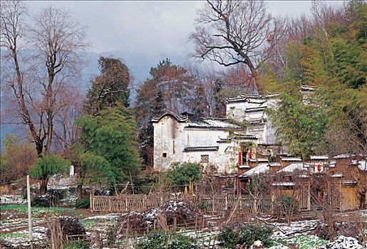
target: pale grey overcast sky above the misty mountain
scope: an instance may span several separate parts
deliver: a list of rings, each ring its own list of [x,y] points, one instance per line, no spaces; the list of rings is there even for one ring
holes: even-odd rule
[[[26,1],[30,11],[52,4],[69,9],[88,26],[91,51],[126,51],[148,56],[186,56],[195,13],[205,1]],[[331,4],[342,4],[341,1]],[[311,1],[267,1],[275,15],[309,13]],[[170,56],[168,56],[170,57]]]

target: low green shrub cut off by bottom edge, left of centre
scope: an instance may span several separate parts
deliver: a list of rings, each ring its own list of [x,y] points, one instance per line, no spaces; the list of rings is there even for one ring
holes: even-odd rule
[[[165,232],[150,233],[140,240],[135,249],[197,249],[195,240],[181,234],[170,235]]]

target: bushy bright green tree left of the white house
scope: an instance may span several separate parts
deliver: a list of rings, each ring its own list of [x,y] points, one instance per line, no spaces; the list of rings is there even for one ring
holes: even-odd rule
[[[82,129],[85,154],[81,154],[84,176],[100,177],[103,169],[108,181],[121,181],[138,174],[140,161],[136,124],[123,105],[108,107],[98,115],[84,115],[77,120]],[[106,180],[107,181],[107,180]]]

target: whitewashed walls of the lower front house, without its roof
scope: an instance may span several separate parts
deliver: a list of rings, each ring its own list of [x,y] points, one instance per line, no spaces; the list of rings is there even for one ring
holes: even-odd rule
[[[177,122],[172,116],[165,116],[154,126],[154,168],[158,171],[169,169],[173,162],[200,163],[202,155],[209,155],[219,172],[231,172],[237,163],[232,144],[217,143],[227,138],[229,132],[221,129],[184,128],[185,122]],[[175,142],[175,149],[173,147]],[[235,146],[238,146],[235,144]],[[218,151],[184,152],[185,147],[219,147]],[[227,151],[226,151],[227,150]],[[163,157],[167,153],[167,157]]]

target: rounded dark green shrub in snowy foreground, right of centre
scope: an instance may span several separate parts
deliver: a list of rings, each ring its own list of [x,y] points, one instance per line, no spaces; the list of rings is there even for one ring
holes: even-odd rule
[[[271,226],[237,223],[234,227],[225,228],[219,234],[219,240],[224,243],[225,248],[234,248],[235,245],[244,243],[250,246],[256,240],[261,240],[265,247],[270,247],[273,245],[273,241],[270,239],[272,232]]]

